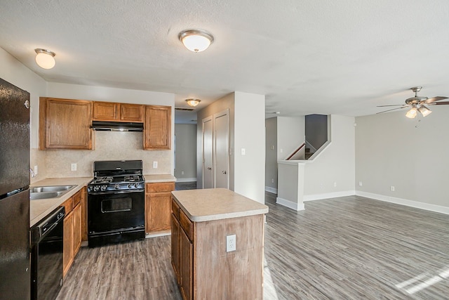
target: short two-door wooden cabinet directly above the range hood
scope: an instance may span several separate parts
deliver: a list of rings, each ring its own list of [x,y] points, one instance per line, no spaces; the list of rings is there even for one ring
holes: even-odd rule
[[[143,122],[143,105],[112,102],[93,102],[93,120],[115,122]]]

